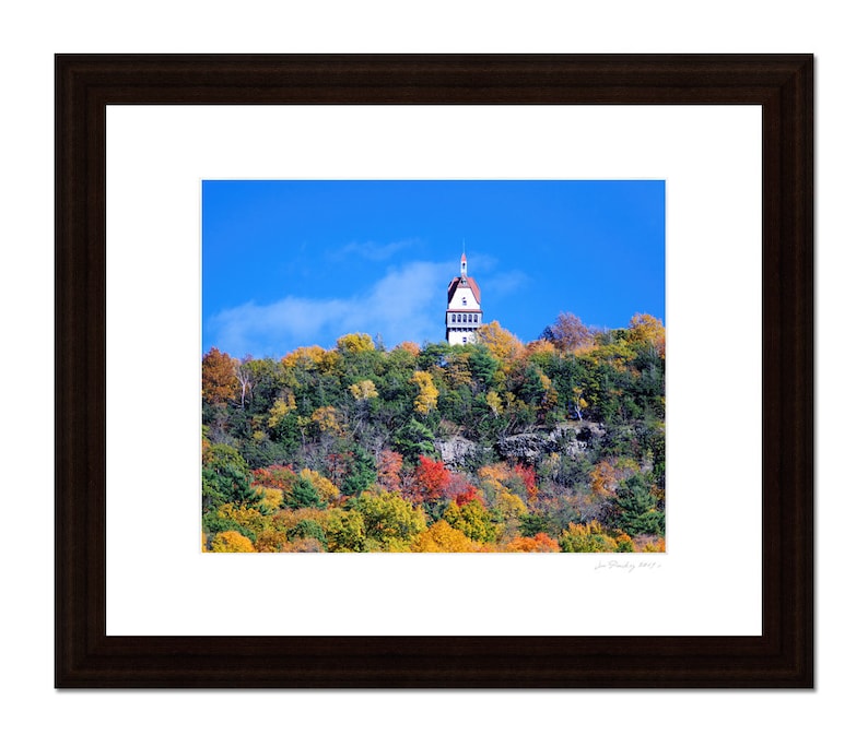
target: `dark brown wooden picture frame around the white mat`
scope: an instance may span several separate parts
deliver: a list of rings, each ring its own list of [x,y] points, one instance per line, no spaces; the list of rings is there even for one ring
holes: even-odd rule
[[[762,106],[762,635],[106,635],[106,106]],[[813,686],[813,58],[56,58],[56,686]]]

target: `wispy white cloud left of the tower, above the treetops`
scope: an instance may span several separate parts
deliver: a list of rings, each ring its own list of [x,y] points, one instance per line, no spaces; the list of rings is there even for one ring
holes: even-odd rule
[[[386,345],[443,336],[450,263],[412,262],[390,270],[350,298],[288,296],[273,304],[247,303],[206,320],[221,351],[234,356],[283,355],[300,345],[331,346],[341,335],[383,335]]]

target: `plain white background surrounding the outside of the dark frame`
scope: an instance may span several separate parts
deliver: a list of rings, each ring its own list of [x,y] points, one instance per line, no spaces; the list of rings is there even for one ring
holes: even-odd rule
[[[861,732],[865,481],[854,324],[866,276],[866,71],[841,0],[420,5],[249,0],[8,8],[0,469],[2,702],[10,744],[836,744]],[[52,600],[55,52],[813,52],[817,59],[818,543],[813,692],[56,692]],[[840,367],[840,368],[838,368]],[[842,374],[838,374],[838,370]]]

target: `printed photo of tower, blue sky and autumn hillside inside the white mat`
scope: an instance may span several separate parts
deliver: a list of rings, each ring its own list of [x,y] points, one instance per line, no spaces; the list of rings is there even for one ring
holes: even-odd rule
[[[202,552],[666,552],[664,181],[201,205]]]

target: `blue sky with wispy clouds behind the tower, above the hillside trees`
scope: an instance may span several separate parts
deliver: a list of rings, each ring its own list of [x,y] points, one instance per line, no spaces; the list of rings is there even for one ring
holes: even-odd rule
[[[444,339],[468,274],[524,342],[561,311],[665,319],[664,181],[204,181],[202,351]]]

